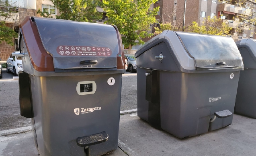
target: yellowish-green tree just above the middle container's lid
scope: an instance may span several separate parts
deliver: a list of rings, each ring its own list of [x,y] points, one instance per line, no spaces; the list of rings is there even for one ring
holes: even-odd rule
[[[220,18],[214,16],[211,18],[208,16],[205,18],[201,25],[197,22],[193,22],[192,26],[188,28],[189,32],[195,32],[199,34],[211,34],[211,35],[222,35],[225,36],[229,33],[232,28],[228,24],[222,22]]]

